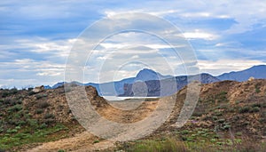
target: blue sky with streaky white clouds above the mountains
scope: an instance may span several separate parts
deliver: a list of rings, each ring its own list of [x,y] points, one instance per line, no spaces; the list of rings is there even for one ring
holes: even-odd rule
[[[0,2],[0,87],[64,81],[67,59],[79,37],[98,20],[127,12],[151,14],[175,25],[191,44],[200,72],[218,76],[266,63],[265,1],[9,0]],[[77,79],[83,82],[119,80],[135,76],[141,68],[163,75],[186,74],[184,60],[168,44],[132,31],[107,37],[78,60],[86,61],[83,80]]]

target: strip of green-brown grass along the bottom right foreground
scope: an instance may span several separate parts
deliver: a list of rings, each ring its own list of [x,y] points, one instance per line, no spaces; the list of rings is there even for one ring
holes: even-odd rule
[[[121,144],[119,149],[129,152],[264,152],[266,143],[254,143],[250,140],[217,140],[207,139],[195,141],[182,141],[176,137],[159,140],[137,140]]]

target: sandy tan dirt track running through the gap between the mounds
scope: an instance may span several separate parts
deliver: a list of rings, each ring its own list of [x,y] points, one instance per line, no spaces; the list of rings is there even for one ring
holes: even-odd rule
[[[126,104],[120,101],[119,105]],[[115,103],[113,103],[115,105]],[[149,115],[157,106],[157,101],[144,102],[135,110],[121,110],[105,105],[103,108],[98,107],[98,113],[107,119],[119,123],[131,123],[143,119]],[[95,143],[97,141],[97,143]],[[43,143],[42,145],[27,150],[27,152],[58,152],[59,149],[66,151],[87,152],[114,148],[114,141],[99,140],[90,132],[82,132],[74,137]]]

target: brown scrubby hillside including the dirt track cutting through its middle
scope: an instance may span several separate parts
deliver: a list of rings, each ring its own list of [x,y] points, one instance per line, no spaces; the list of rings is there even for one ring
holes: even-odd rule
[[[99,97],[95,88],[86,86],[86,91],[98,113],[118,123],[142,120],[153,112],[160,100],[167,98],[147,100],[135,110],[121,110]],[[201,84],[200,100],[191,119],[183,127],[176,128],[174,124],[184,104],[185,93],[186,87],[176,93],[172,114],[149,137],[113,143],[84,132],[68,108],[63,87],[38,93],[0,90],[0,149],[136,151],[139,144],[147,147],[151,142],[163,144],[165,137],[170,136],[190,151],[198,151],[203,145],[214,151],[238,146],[262,150],[260,143],[266,136],[266,80]],[[128,102],[124,101],[124,104]]]

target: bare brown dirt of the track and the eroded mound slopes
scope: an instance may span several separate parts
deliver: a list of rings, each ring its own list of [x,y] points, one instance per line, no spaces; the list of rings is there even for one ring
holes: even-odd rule
[[[246,136],[254,139],[262,139],[266,136],[266,80],[255,79],[243,83],[234,81],[223,81],[214,84],[200,84],[200,100],[192,115],[182,128],[175,128],[180,110],[184,105],[187,88],[173,96],[176,96],[176,106],[168,120],[160,128],[151,134],[171,132],[175,130],[192,129],[204,127],[215,130],[215,132],[245,132]],[[79,86],[77,86],[79,87]],[[71,92],[71,91],[70,91]],[[138,108],[122,110],[111,106],[107,100],[98,96],[98,92],[92,86],[86,86],[86,92],[93,107],[98,114],[117,123],[134,123],[144,119],[153,113],[160,100],[143,102]],[[1,93],[1,92],[0,92]],[[43,116],[50,113],[54,121],[75,125],[71,129],[74,137],[62,140],[39,143],[40,146],[28,149],[28,151],[57,151],[66,149],[72,151],[93,151],[113,148],[114,143],[108,140],[99,140],[89,132],[84,132],[81,125],[77,124],[71,110],[68,108],[64,88],[45,90],[28,95],[28,92],[20,92],[23,108],[36,119],[43,121]],[[8,97],[14,98],[15,96]],[[43,103],[45,102],[45,103]],[[45,104],[49,106],[45,106]],[[126,101],[124,101],[127,104]],[[115,103],[114,103],[115,104]],[[43,106],[44,105],[44,106]],[[43,108],[42,114],[36,114],[36,109]],[[227,124],[219,124],[218,120],[224,119]],[[230,130],[225,125],[230,125]]]

